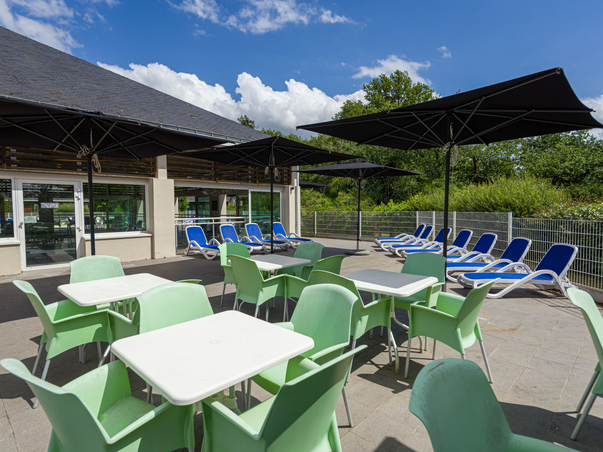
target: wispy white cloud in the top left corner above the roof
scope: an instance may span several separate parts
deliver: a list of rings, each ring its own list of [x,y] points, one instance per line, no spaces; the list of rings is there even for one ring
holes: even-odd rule
[[[22,14],[17,13],[14,7],[19,8]],[[0,25],[63,52],[71,53],[72,48],[81,46],[69,31],[24,14],[54,19],[71,18],[73,11],[62,0],[0,0]]]

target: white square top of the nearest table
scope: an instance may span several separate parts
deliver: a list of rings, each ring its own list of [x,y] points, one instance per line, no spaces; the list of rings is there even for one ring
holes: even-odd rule
[[[189,405],[314,347],[311,337],[226,311],[119,339],[113,353],[174,405]]]

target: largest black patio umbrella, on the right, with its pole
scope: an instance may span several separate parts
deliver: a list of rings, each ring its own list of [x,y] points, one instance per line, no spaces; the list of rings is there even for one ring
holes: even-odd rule
[[[603,127],[555,67],[395,110],[297,128],[358,144],[446,153],[444,228],[448,226],[450,151],[456,145],[488,144],[551,133]],[[446,256],[444,236],[444,256]]]

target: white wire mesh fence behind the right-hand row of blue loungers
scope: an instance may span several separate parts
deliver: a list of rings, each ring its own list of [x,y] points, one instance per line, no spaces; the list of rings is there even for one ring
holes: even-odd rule
[[[301,234],[306,236],[356,236],[356,212],[301,212]],[[412,233],[418,224],[434,225],[434,233],[443,226],[443,212],[361,212],[361,236],[393,237]],[[498,234],[492,250],[499,257],[514,237],[532,240],[524,262],[534,269],[553,243],[578,246],[578,255],[569,271],[573,283],[603,290],[603,221],[513,218],[509,213],[449,212],[452,227],[450,241],[462,229],[473,231],[469,247],[481,234]]]

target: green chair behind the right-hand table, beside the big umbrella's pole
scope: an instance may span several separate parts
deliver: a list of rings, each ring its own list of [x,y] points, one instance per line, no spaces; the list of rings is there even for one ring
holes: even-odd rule
[[[432,297],[432,295],[440,290],[440,286],[446,283],[446,258],[436,253],[414,253],[411,254],[411,256],[406,257],[400,273],[438,278],[438,286],[419,290],[409,297],[394,297],[394,307],[407,311],[410,310],[411,304],[421,304],[422,306],[433,307],[435,306],[435,298]],[[428,292],[430,295],[429,297]],[[394,320],[401,327],[408,330],[408,325],[398,322],[396,319]],[[419,336],[418,339],[419,350],[423,353],[423,341],[421,340],[421,336]],[[427,337],[425,337],[425,350],[427,350],[427,347]]]

